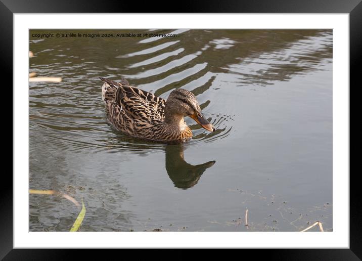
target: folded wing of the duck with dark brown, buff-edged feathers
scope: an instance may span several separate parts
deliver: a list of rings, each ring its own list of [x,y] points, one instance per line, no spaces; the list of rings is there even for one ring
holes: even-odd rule
[[[164,118],[165,100],[141,89],[127,85],[128,81],[115,82],[101,78],[111,87],[115,87],[115,102],[125,113],[134,119],[154,123]]]

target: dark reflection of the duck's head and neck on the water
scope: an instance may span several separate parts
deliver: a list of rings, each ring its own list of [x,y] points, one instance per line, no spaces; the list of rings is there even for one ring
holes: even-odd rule
[[[204,171],[213,164],[215,164],[214,160],[204,164],[191,165],[184,159],[183,144],[166,146],[166,171],[176,188],[194,187]]]

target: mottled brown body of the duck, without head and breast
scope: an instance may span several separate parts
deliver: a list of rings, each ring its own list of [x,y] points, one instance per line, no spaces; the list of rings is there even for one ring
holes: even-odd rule
[[[114,127],[134,137],[153,139],[154,127],[164,119],[165,100],[130,86],[125,79],[101,80],[102,99]]]

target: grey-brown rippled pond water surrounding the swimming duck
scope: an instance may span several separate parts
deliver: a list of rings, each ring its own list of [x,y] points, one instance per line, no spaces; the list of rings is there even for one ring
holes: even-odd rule
[[[332,231],[332,30],[107,32],[171,31],[30,31],[30,71],[63,78],[29,84],[30,188],[83,199],[80,231]],[[184,144],[127,137],[99,76],[164,99],[192,91],[216,131],[186,118]],[[69,231],[80,210],[56,195],[29,204],[30,231]]]

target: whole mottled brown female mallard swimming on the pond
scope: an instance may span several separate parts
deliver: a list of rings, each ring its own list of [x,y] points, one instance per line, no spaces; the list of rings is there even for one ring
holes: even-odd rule
[[[129,86],[125,79],[121,82],[100,79],[104,81],[102,99],[109,121],[130,136],[158,142],[188,140],[192,131],[184,116],[190,116],[210,132],[215,130],[201,113],[195,95],[187,90],[173,90],[166,102],[152,93]]]

